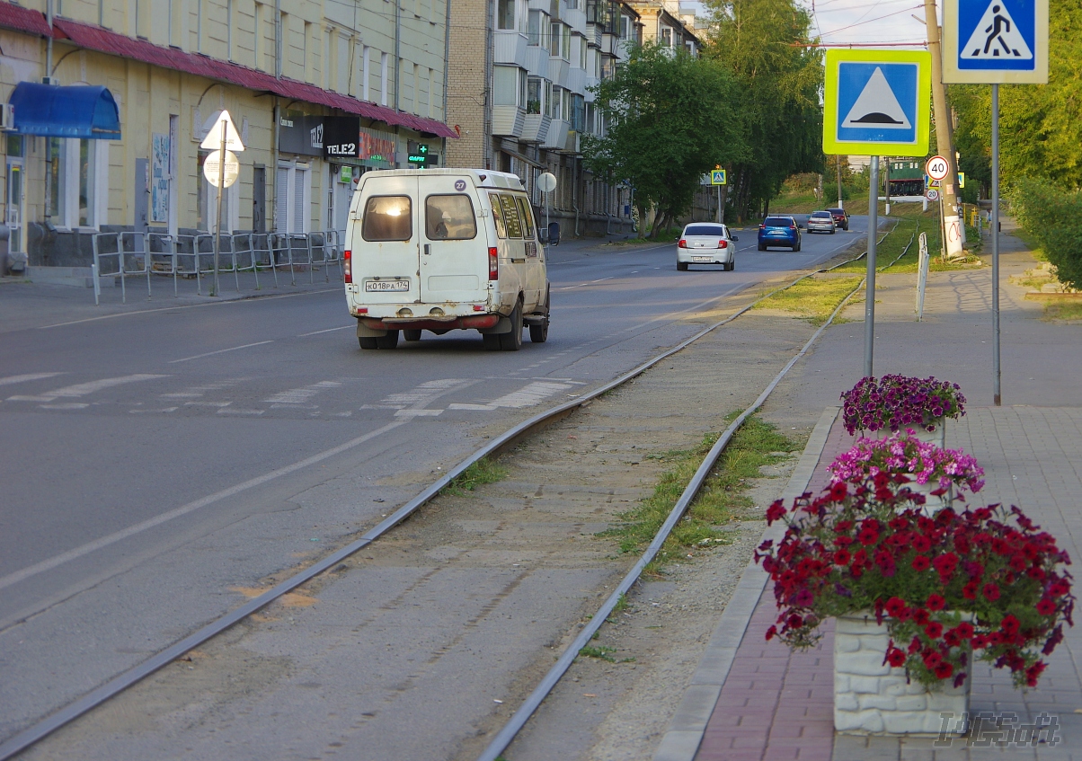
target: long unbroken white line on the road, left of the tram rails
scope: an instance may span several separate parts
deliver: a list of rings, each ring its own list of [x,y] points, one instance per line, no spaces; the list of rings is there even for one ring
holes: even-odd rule
[[[255,476],[254,478],[249,478],[248,481],[245,481],[240,484],[236,484],[235,486],[222,489],[221,491],[215,491],[214,494],[207,495],[206,497],[197,499],[193,502],[188,502],[187,504],[182,504],[181,507],[175,508],[174,510],[170,510],[160,515],[156,515],[155,517],[151,517],[147,521],[143,521],[142,523],[136,523],[132,526],[129,526],[128,528],[123,528],[119,532],[114,532],[113,534],[104,536],[100,539],[95,539],[94,541],[87,542],[85,544],[76,547],[71,550],[68,550],[67,552],[62,552],[58,555],[53,555],[52,557],[43,560],[40,563],[28,565],[27,567],[21,570],[16,570],[12,574],[8,574],[6,576],[0,577],[0,589],[10,587],[13,583],[18,583],[19,581],[25,581],[26,579],[32,576],[37,576],[38,574],[55,568],[56,566],[68,563],[69,561],[76,560],[77,557],[82,557],[83,555],[90,554],[91,552],[95,552],[97,550],[109,547],[110,544],[115,544],[118,541],[127,539],[128,537],[131,536],[135,536],[136,534],[141,534],[149,528],[154,528],[155,526],[160,526],[161,524],[168,523],[173,519],[181,517],[182,515],[187,515],[188,513],[195,512],[196,510],[204,508],[208,504],[213,504],[214,502],[219,502],[228,497],[233,497],[234,495],[240,494],[241,491],[247,491],[248,489],[253,488],[255,486],[261,486],[267,483],[268,481],[274,481],[275,478],[279,478],[283,475],[289,475],[290,473],[299,471],[303,468],[307,468],[308,465],[313,465],[317,462],[321,462],[322,460],[334,457],[335,455],[341,455],[344,451],[348,451],[349,449],[358,447],[365,442],[371,441],[377,436],[382,436],[384,433],[387,433],[388,431],[396,429],[400,425],[405,425],[408,422],[409,418],[392,421],[386,425],[383,425],[382,428],[378,428],[374,431],[366,433],[364,436],[358,436],[348,442],[345,442],[344,444],[340,444],[337,447],[325,449],[324,451],[317,452],[312,457],[306,457],[305,459],[299,460],[292,464],[278,468],[276,470],[269,471],[268,473],[264,473],[263,475]]]

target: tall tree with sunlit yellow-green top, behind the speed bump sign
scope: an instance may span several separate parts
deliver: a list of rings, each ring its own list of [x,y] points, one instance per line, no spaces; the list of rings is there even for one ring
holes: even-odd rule
[[[737,213],[768,208],[795,172],[822,171],[822,55],[806,47],[812,17],[794,0],[707,0],[704,53],[738,83],[734,104],[748,149],[733,167]]]

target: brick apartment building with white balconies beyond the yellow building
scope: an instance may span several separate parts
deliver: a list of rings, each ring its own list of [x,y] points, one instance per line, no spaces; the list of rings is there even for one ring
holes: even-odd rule
[[[591,88],[642,41],[638,12],[615,0],[462,0],[454,13],[447,122],[461,139],[448,142],[448,166],[518,174],[565,235],[629,231],[631,188],[586,172],[581,144],[603,134]],[[542,172],[557,179],[547,199]]]

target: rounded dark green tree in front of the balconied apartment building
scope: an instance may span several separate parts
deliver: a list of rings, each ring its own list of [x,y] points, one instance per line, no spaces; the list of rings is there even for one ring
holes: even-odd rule
[[[713,62],[656,43],[594,88],[607,130],[582,135],[586,168],[630,182],[642,218],[657,207],[652,235],[690,207],[703,174],[742,160],[733,90]]]

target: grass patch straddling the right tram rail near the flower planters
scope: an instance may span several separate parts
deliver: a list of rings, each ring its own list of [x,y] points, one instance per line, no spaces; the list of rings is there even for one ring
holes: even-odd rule
[[[726,420],[735,420],[738,415],[731,412]],[[718,435],[707,434],[691,449],[671,449],[651,455],[652,459],[669,465],[654,487],[654,494],[620,513],[621,523],[602,532],[601,536],[615,538],[621,552],[635,552],[646,547],[661,528]],[[755,416],[749,417],[722,452],[684,520],[673,528],[661,552],[644,573],[657,576],[670,560],[685,554],[685,548],[727,543],[723,526],[734,516],[755,507],[744,494],[748,481],[760,477],[762,467],[784,460],[796,448],[795,443],[770,423]]]

